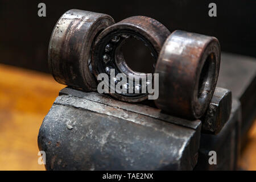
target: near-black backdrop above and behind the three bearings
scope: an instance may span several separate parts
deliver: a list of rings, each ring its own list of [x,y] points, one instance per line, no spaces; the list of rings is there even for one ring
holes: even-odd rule
[[[38,3],[46,3],[46,17]],[[208,5],[217,5],[217,17]],[[118,22],[150,16],[170,31],[216,36],[222,51],[256,57],[256,1],[0,1],[0,63],[48,72],[47,50],[55,23],[69,9],[109,14]]]

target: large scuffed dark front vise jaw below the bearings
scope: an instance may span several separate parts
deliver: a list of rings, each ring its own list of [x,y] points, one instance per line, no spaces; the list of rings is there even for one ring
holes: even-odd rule
[[[144,110],[142,105],[126,103],[122,109],[123,102],[111,97],[104,98],[106,105],[101,103],[102,94],[72,90],[61,91],[40,127],[38,145],[46,152],[47,170],[195,167],[200,121],[187,127],[184,120],[163,122],[129,110],[134,105]]]

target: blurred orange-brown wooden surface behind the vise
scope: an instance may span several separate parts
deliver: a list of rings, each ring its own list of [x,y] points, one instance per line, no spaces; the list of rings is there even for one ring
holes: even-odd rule
[[[62,88],[51,75],[0,64],[0,170],[44,170],[38,131]],[[256,170],[256,122],[240,168]]]

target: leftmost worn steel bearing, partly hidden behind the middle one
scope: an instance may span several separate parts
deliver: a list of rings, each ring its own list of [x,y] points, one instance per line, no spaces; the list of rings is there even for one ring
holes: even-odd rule
[[[64,13],[52,31],[48,50],[49,69],[57,82],[96,90],[91,49],[96,36],[114,24],[111,16],[83,10]]]

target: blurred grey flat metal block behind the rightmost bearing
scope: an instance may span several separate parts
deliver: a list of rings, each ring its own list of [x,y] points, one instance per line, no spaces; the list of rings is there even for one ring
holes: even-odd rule
[[[242,144],[246,143],[247,131],[256,119],[255,57],[222,53],[217,86],[231,90],[233,98],[240,100],[242,108]]]

